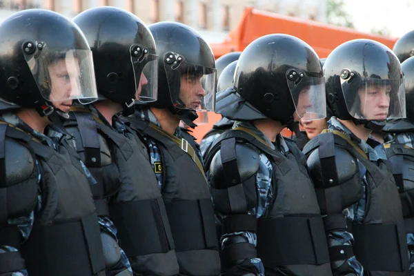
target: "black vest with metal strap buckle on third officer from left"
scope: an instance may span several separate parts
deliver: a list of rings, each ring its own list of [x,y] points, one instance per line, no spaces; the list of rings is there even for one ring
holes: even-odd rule
[[[164,173],[162,196],[183,275],[219,275],[220,259],[213,205],[201,161],[191,144],[139,118],[128,118],[137,131],[157,141]]]

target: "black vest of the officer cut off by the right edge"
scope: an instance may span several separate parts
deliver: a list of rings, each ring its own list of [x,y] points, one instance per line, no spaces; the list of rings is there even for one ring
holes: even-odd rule
[[[384,148],[400,193],[406,233],[414,233],[414,149],[404,144],[384,144]]]

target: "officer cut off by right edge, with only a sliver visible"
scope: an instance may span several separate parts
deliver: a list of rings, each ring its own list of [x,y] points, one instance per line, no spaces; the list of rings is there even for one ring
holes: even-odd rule
[[[414,162],[414,57],[401,63],[404,72],[406,92],[406,119],[387,121],[384,132],[387,139],[384,144],[386,157],[391,161],[392,171],[402,203],[402,214],[407,233],[408,250],[410,251],[410,275],[414,275],[414,208],[413,177],[410,174]]]

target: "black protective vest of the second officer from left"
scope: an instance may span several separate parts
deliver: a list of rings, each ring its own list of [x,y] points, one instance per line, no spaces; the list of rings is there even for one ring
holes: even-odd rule
[[[132,270],[177,275],[166,207],[144,144],[130,128],[120,134],[87,109],[77,107],[72,113],[75,121],[66,125],[80,138],[77,150],[99,182],[92,189],[95,204],[101,207],[99,214],[108,215],[117,227],[119,245]]]

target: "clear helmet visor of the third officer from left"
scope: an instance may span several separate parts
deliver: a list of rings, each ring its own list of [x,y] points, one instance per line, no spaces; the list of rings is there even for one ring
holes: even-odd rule
[[[164,56],[171,101],[175,108],[214,111],[216,69],[187,63],[183,55]]]

